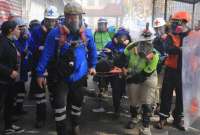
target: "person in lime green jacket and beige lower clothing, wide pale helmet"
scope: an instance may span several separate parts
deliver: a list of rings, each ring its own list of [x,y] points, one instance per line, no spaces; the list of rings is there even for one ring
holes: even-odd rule
[[[142,111],[142,127],[140,135],[151,135],[150,117],[152,104],[155,100],[157,87],[157,64],[159,54],[153,48],[153,35],[145,30],[139,41],[125,48],[124,54],[128,61],[124,73],[127,75],[127,94],[130,103],[131,119],[127,128],[133,129],[138,124],[139,110]]]

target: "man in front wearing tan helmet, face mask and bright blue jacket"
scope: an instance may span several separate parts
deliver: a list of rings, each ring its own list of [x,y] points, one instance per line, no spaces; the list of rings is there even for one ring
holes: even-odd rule
[[[54,79],[54,86],[51,88],[54,87],[52,93],[57,134],[68,134],[66,131],[67,104],[71,123],[69,134],[80,135],[83,87],[88,69],[90,74],[96,73],[97,53],[91,31],[82,27],[84,12],[81,5],[76,2],[67,3],[64,14],[63,25],[53,29],[47,36],[45,48],[37,66],[37,81],[42,88],[45,85],[43,74],[46,68],[51,67],[52,70],[48,69],[48,78],[52,76]]]

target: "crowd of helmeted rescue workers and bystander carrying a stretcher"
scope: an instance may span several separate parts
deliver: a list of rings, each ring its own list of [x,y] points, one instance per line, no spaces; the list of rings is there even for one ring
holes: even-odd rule
[[[153,111],[160,116],[155,128],[165,127],[175,91],[173,125],[185,130],[182,45],[192,31],[187,25],[190,14],[175,12],[167,22],[156,18],[155,34],[147,23],[137,40],[124,27],[108,27],[105,18],[99,18],[93,34],[83,21],[83,14],[81,5],[70,2],[64,7],[64,17],[59,18],[57,8],[49,6],[42,22],[32,20],[28,27],[22,18],[15,16],[1,25],[0,109],[4,112],[4,134],[24,132],[14,124],[13,116],[26,114],[23,103],[29,72],[29,95],[36,102],[36,128],[45,126],[48,89],[57,134],[81,135],[84,90],[87,76],[92,75],[96,89],[101,89],[102,77],[105,85],[111,84],[114,118],[120,117],[122,96],[128,96],[131,118],[126,128],[133,129],[142,121],[140,135],[151,135]],[[104,73],[111,75],[100,76]],[[93,109],[102,111],[105,111],[102,106]]]

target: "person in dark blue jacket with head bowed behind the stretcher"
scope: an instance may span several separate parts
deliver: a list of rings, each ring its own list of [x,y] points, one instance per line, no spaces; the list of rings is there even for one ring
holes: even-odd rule
[[[113,61],[112,65],[119,67],[121,65],[120,55],[123,54],[123,51],[126,45],[131,42],[131,37],[129,32],[126,29],[120,29],[113,37],[112,41],[108,42],[105,48],[103,49],[107,55],[111,55]],[[106,64],[104,64],[106,65]],[[106,69],[106,68],[104,68]],[[112,98],[113,98],[113,107],[114,107],[114,118],[120,116],[120,102],[122,95],[125,93],[126,81],[122,75],[114,75],[113,77],[107,78],[111,83],[112,87]],[[94,109],[94,112],[102,111],[102,108]]]

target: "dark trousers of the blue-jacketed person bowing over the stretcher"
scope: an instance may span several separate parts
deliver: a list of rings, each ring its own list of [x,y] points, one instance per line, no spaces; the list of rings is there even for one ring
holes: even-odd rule
[[[125,93],[126,81],[121,76],[111,77],[112,98],[115,112],[119,111],[122,95]]]

